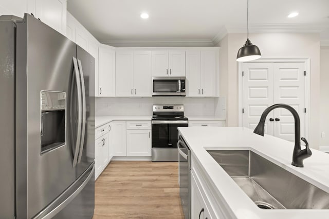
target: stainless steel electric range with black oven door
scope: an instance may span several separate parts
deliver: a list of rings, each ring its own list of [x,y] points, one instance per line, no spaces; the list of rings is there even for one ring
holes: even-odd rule
[[[152,161],[178,161],[177,127],[189,126],[184,105],[153,105]]]

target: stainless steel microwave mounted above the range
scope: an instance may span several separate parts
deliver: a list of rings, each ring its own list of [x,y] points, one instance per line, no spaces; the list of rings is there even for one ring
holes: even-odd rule
[[[185,96],[185,77],[153,77],[152,96]]]

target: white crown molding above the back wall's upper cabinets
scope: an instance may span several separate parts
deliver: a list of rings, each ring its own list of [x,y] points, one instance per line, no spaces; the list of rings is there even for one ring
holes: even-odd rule
[[[211,39],[110,39],[100,41],[114,47],[208,47],[214,46]]]

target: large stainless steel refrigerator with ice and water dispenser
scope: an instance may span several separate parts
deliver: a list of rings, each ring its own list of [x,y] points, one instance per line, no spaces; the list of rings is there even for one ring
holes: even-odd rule
[[[95,59],[29,14],[0,42],[0,218],[92,218]]]

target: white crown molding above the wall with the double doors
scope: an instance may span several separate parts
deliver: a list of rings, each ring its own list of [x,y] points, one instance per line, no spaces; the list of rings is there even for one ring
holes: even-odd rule
[[[320,33],[327,25],[309,24],[254,24],[249,25],[249,33]],[[228,33],[246,33],[246,25],[226,25]]]

